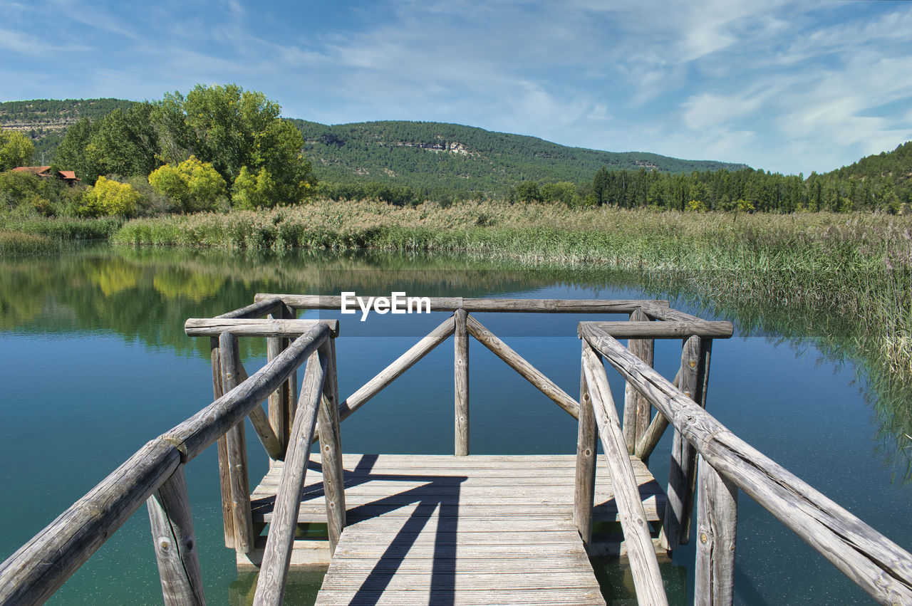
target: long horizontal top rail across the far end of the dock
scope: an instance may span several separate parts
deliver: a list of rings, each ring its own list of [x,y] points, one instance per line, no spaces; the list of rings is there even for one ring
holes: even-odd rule
[[[364,295],[361,295],[364,296]],[[322,294],[258,293],[254,301],[282,299],[295,309],[341,309],[342,297]],[[432,312],[513,312],[513,313],[630,313],[642,305],[661,308],[668,301],[630,299],[465,299],[429,297]]]

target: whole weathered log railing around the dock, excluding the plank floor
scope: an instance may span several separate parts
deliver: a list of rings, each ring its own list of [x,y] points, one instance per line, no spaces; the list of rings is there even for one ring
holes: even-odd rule
[[[254,528],[248,492],[243,421],[249,417],[271,461],[285,461],[254,596],[256,604],[281,603],[312,443],[320,444],[327,534],[330,550],[335,550],[346,525],[340,422],[451,334],[455,335],[455,454],[470,451],[468,337],[472,335],[578,419],[574,519],[586,545],[592,533],[596,441],[601,439],[641,601],[660,604],[666,598],[629,455],[646,461],[668,425],[675,436],[660,539],[668,550],[688,542],[696,493],[699,603],[729,603],[733,596],[737,488],[770,509],[876,599],[912,601],[912,556],[733,436],[703,409],[712,339],[730,337],[731,323],[707,322],[660,301],[456,297],[432,298],[430,303],[434,311],[453,314],[341,401],[337,322],[295,319],[300,309],[338,310],[340,297],[259,294],[247,307],[216,318],[188,320],[188,335],[212,339],[214,401],[140,448],[6,560],[0,566],[0,602],[47,599],[145,500],[165,602],[203,603],[183,466],[217,443],[225,544],[249,553],[261,530]],[[471,312],[628,313],[630,319],[579,324],[583,351],[577,401]],[[238,355],[242,336],[267,339],[267,364],[249,377]],[[616,338],[629,339],[628,348]],[[684,344],[673,383],[651,368],[653,340],[668,338],[680,338]],[[627,383],[622,418],[617,416],[600,356]],[[296,370],[305,363],[298,396]],[[264,400],[268,402],[265,412],[260,406]],[[653,407],[658,411],[655,416]]]

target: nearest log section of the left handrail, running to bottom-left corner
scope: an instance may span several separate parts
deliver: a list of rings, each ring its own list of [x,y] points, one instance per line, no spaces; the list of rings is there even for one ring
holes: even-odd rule
[[[0,565],[0,603],[47,601],[180,463],[161,437],[141,447]]]

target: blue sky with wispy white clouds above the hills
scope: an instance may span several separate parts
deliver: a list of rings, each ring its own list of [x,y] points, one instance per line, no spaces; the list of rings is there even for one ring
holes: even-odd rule
[[[337,124],[456,122],[826,171],[912,139],[912,3],[0,0],[0,100],[263,91]]]

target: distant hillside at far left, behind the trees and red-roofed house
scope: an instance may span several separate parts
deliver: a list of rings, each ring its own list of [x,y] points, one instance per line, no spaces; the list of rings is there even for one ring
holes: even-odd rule
[[[0,128],[21,130],[35,143],[35,160],[50,164],[71,124],[80,118],[104,118],[133,101],[122,99],[33,99],[0,103]]]

